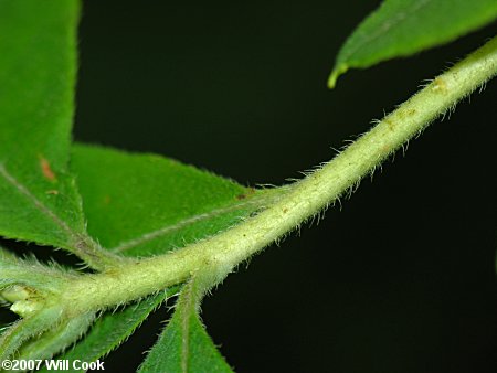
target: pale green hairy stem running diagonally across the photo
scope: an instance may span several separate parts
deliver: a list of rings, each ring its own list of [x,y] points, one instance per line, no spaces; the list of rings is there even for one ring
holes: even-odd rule
[[[436,77],[258,215],[173,253],[68,281],[61,301],[94,310],[144,297],[211,268],[214,281],[327,207],[441,114],[497,74],[497,38]]]

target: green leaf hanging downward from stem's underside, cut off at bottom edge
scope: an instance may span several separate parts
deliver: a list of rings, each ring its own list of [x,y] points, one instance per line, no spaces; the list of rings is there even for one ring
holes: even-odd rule
[[[203,290],[195,278],[183,287],[172,319],[138,372],[232,372],[200,320]]]

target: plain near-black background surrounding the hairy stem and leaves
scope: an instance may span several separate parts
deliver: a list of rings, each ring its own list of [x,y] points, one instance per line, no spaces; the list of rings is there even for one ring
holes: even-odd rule
[[[493,36],[326,88],[379,1],[86,1],[75,139],[282,184]],[[237,372],[497,371],[497,82],[300,237],[231,275],[203,320]],[[166,311],[107,371],[131,372]]]

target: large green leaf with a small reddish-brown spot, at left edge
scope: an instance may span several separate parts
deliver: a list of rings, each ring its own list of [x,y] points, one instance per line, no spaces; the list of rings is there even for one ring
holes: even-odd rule
[[[84,241],[67,174],[78,2],[0,1],[0,235],[72,249]]]

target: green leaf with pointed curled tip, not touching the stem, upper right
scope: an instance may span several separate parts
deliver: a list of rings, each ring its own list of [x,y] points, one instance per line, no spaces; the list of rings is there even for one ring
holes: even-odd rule
[[[350,67],[408,56],[451,42],[497,18],[495,0],[385,0],[340,49],[328,81]]]

